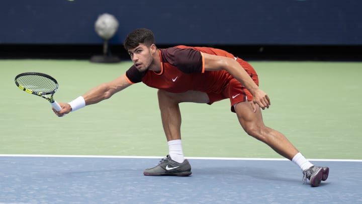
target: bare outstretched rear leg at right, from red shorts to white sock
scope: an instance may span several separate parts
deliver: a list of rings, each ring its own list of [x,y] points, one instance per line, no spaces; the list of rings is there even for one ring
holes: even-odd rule
[[[246,133],[267,144],[283,157],[292,160],[298,150],[279,131],[266,127],[263,123],[261,110],[253,112],[252,102],[241,102],[235,105],[235,112]],[[256,104],[257,105],[257,104]]]

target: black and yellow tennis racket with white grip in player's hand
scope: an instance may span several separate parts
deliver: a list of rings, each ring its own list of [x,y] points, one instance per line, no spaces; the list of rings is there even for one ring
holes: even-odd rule
[[[15,77],[15,84],[27,93],[45,98],[56,111],[62,109],[53,99],[58,90],[58,82],[51,76],[37,72],[22,73]]]

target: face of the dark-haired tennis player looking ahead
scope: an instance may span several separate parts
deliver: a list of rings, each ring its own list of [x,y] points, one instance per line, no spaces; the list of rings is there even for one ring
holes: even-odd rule
[[[153,62],[151,49],[144,44],[139,44],[137,47],[129,49],[128,54],[131,56],[133,64],[139,72],[148,70]]]

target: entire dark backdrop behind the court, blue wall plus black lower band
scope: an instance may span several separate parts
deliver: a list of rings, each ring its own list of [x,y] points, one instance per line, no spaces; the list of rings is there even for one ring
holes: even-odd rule
[[[86,59],[102,51],[95,32],[109,13],[119,28],[109,41],[128,58],[126,35],[151,29],[159,47],[213,46],[244,59],[360,60],[358,0],[8,1],[0,7],[1,58]]]

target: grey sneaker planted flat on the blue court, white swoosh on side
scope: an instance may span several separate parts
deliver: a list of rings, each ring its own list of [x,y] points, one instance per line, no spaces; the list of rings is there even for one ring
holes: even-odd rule
[[[187,159],[183,163],[175,162],[169,155],[163,158],[160,163],[152,168],[145,169],[145,176],[190,176],[191,165]]]

